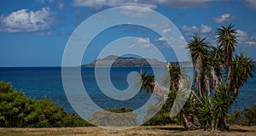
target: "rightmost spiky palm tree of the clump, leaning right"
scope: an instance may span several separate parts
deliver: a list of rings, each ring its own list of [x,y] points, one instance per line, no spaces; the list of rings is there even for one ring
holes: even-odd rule
[[[239,93],[239,88],[241,88],[244,82],[247,82],[248,77],[253,77],[253,59],[247,57],[246,54],[241,53],[240,55],[236,54],[233,61],[233,77],[234,77],[234,98]]]

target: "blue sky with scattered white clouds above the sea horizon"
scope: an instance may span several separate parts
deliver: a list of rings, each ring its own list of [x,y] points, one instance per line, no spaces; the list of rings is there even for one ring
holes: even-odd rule
[[[244,51],[256,60],[255,0],[2,0],[0,67],[61,66],[73,31],[94,14],[118,6],[150,8],[163,14],[177,26],[187,42],[196,33],[216,45],[216,29],[229,23],[235,24],[239,43],[237,52]],[[134,19],[143,18],[144,14],[123,15]],[[106,17],[102,17],[101,23],[107,21]],[[84,31],[90,35],[90,30]],[[172,30],[163,27],[162,31]],[[141,37],[127,48],[146,52],[151,43],[160,48],[168,61],[176,59],[172,48],[158,33],[143,26],[126,24],[113,26],[97,35],[84,51],[81,63],[93,61],[109,42],[122,37]],[[120,49],[117,48],[116,52]]]

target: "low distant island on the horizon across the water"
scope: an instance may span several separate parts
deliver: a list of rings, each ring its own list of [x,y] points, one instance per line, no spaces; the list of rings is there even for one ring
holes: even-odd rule
[[[94,67],[97,63],[97,66],[108,66],[112,64],[112,67],[148,67],[153,66],[163,66],[166,65],[166,62],[161,62],[157,59],[144,59],[144,58],[135,58],[135,57],[120,57],[116,55],[109,55],[103,59],[96,59],[89,64],[82,65],[83,67]],[[191,62],[182,62],[181,65],[191,65]]]

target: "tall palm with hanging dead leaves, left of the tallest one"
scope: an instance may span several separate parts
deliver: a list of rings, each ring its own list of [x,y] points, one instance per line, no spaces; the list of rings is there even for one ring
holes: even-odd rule
[[[199,91],[200,96],[202,96],[201,78],[205,67],[204,60],[207,59],[207,48],[209,48],[205,40],[206,38],[201,39],[198,35],[194,35],[188,46],[195,69],[195,88]]]

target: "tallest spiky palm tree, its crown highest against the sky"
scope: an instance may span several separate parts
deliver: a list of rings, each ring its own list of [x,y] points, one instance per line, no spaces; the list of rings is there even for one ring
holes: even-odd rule
[[[236,30],[233,29],[234,25],[222,26],[217,30],[217,42],[221,48],[224,48],[224,65],[227,74],[227,92],[226,94],[234,93],[234,82],[233,82],[233,65],[232,65],[232,55],[235,52],[235,47],[237,46]]]

